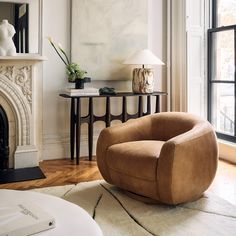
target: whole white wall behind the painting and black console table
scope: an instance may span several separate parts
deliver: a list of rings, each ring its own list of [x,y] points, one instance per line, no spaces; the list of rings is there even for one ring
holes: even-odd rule
[[[65,66],[53,51],[46,37],[51,36],[60,42],[65,51],[70,51],[70,1],[44,0],[43,2],[43,55],[48,58],[43,69],[43,159],[58,159],[69,157],[69,100],[59,97],[63,89],[70,87],[67,83]],[[150,49],[164,62],[166,59],[166,1],[150,0],[151,15]],[[56,7],[55,7],[56,6]],[[166,91],[166,66],[156,69],[155,90]],[[162,81],[162,82],[161,82]],[[73,86],[73,84],[72,84]],[[90,87],[114,87],[117,91],[131,91],[131,81],[93,81]],[[136,112],[136,100],[130,98],[128,111]],[[82,104],[82,113],[86,114],[86,102]],[[121,99],[112,99],[113,114],[121,112]],[[97,99],[94,102],[96,115],[105,112],[105,101]],[[163,108],[165,110],[165,108]],[[105,127],[103,122],[95,123],[94,141],[99,131]],[[86,126],[82,127],[81,155],[88,155]],[[94,142],[95,151],[96,142]]]

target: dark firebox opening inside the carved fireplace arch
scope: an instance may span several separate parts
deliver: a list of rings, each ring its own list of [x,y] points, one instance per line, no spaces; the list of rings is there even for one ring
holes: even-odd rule
[[[9,168],[9,123],[5,110],[0,105],[0,170]]]

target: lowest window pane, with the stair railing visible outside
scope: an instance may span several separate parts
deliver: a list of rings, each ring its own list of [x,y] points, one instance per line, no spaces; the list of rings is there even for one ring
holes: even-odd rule
[[[216,131],[234,135],[234,84],[212,84],[212,124]]]

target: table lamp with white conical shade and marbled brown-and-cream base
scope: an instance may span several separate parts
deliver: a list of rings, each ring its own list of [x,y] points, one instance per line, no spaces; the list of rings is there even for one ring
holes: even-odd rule
[[[164,65],[164,63],[156,57],[150,50],[144,49],[137,51],[123,64],[142,65],[142,68],[134,68],[132,89],[134,93],[152,93],[153,92],[153,68],[145,68],[145,65]]]

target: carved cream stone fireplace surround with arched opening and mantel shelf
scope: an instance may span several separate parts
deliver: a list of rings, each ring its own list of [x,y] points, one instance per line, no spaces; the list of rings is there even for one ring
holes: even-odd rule
[[[0,105],[9,123],[9,168],[38,166],[42,151],[41,56],[0,57]]]

